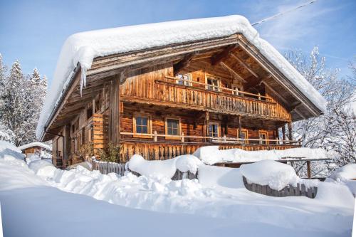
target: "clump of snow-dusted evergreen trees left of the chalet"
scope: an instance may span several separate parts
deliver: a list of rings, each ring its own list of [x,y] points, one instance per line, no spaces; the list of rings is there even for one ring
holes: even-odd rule
[[[18,60],[9,73],[0,55],[0,130],[16,146],[36,140],[36,125],[47,93],[47,78],[37,68],[23,75]],[[6,134],[6,136],[4,135]]]

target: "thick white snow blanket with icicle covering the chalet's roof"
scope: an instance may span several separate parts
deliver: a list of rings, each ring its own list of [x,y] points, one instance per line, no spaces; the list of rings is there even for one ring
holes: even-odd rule
[[[242,33],[316,107],[325,111],[326,101],[323,96],[288,63],[281,53],[259,37],[256,29],[244,16],[224,16],[150,23],[73,34],[67,38],[58,58],[51,89],[38,121],[37,137],[41,137],[43,126],[46,125],[51,113],[61,101],[78,63],[82,70],[80,85],[83,85],[85,84],[85,72],[91,67],[95,57],[168,46],[173,43],[231,36],[234,33]]]

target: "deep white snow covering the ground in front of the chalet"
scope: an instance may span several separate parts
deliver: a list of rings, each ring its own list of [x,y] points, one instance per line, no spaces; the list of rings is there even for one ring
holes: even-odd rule
[[[315,199],[275,198],[247,191],[239,169],[204,165],[199,181],[117,177],[28,167],[1,146],[0,201],[4,236],[36,237],[351,236],[354,206],[340,182],[320,182]]]

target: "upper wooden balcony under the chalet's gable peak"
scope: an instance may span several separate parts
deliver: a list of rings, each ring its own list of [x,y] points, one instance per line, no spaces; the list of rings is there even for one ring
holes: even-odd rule
[[[193,81],[181,85],[179,80],[167,75],[157,80],[129,80],[122,85],[120,96],[128,102],[291,121],[284,107],[263,95]]]

